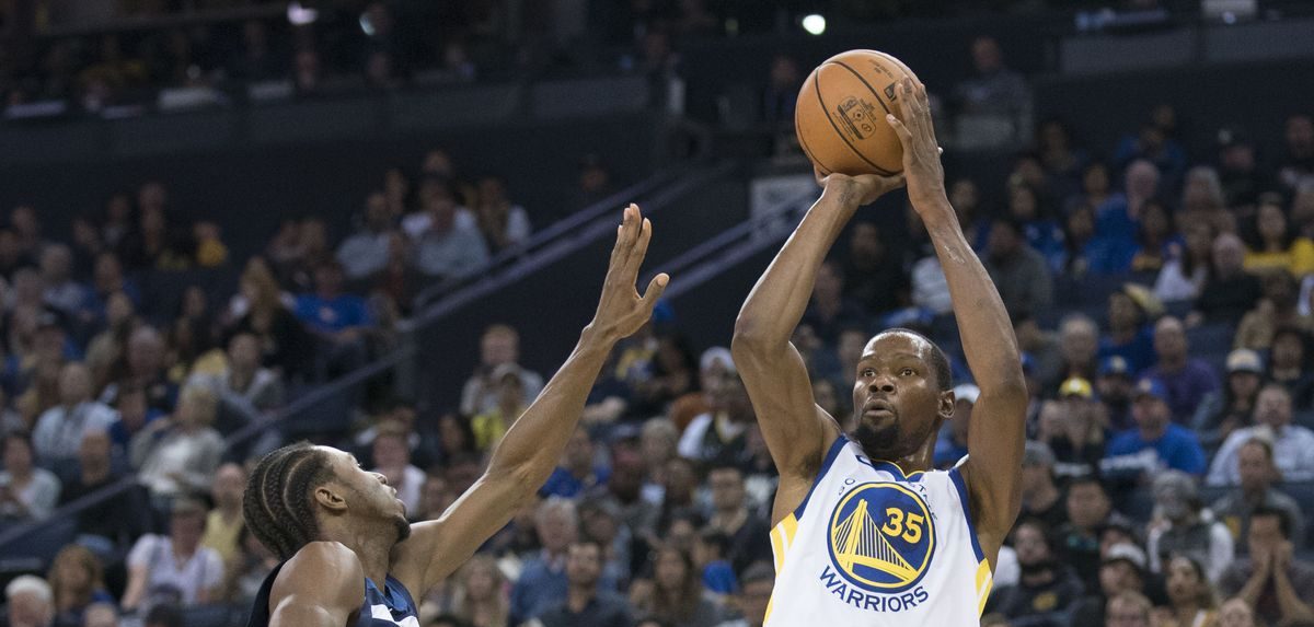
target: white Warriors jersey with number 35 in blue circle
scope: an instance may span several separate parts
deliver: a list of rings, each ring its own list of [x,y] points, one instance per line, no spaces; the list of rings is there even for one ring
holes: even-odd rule
[[[991,589],[959,470],[905,476],[842,435],[771,550],[766,627],[978,626]]]

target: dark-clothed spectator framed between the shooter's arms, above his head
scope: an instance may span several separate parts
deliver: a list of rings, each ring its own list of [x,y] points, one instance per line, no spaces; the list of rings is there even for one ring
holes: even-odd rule
[[[869,315],[907,307],[909,303],[908,275],[890,254],[875,222],[853,224],[842,265],[830,265],[829,269],[842,281],[845,302],[857,303]],[[816,331],[828,342],[833,342],[838,334],[828,334],[821,328]]]

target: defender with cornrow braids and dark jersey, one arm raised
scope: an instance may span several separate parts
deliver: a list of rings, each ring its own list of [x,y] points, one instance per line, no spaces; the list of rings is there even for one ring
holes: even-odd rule
[[[261,459],[246,488],[246,523],[285,561],[265,578],[248,626],[419,627],[415,599],[533,501],[607,353],[652,315],[669,277],[654,277],[643,296],[635,291],[650,236],[639,207],[625,209],[593,321],[484,476],[442,518],[409,525],[397,489],[336,449],[300,443]]]

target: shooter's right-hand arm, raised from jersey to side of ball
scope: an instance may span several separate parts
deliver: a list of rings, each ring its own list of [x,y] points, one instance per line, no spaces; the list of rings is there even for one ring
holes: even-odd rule
[[[954,207],[945,195],[926,88],[904,79],[896,87],[904,122],[887,119],[904,148],[908,198],[936,245],[949,281],[967,365],[980,397],[967,432],[971,455],[962,467],[971,496],[976,535],[991,564],[1013,527],[1022,502],[1022,447],[1026,441],[1026,383],[1017,338],[999,290],[967,245]]]

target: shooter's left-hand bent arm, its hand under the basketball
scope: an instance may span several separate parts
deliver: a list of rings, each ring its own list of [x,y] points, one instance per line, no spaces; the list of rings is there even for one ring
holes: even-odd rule
[[[830,174],[825,189],[753,286],[735,321],[735,367],[744,379],[758,425],[781,474],[771,523],[796,509],[840,435],[834,418],[816,405],[812,382],[790,342],[812,295],[812,283],[844,226],[859,206],[903,185],[901,177]]]

